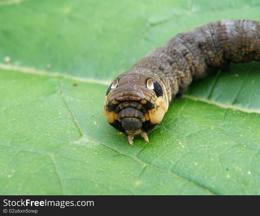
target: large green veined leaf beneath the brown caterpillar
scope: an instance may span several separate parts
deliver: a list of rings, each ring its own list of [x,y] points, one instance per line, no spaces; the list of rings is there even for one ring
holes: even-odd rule
[[[0,1],[0,194],[260,194],[259,62],[194,81],[149,144],[130,146],[103,115],[110,82],[154,48],[207,22],[258,20],[259,9]]]

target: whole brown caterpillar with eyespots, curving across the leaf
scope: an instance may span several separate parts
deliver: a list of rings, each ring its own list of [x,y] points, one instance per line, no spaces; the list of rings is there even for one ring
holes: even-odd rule
[[[260,22],[220,20],[179,33],[120,74],[105,94],[107,122],[128,136],[129,144],[158,125],[173,98],[181,97],[208,67],[260,61]]]

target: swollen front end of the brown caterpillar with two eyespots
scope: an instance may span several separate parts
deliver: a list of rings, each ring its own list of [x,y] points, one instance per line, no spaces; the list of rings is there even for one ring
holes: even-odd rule
[[[166,87],[149,69],[131,69],[119,75],[108,87],[104,101],[105,118],[128,135],[149,142],[146,132],[161,122],[169,106]]]

